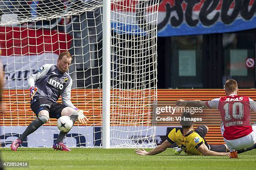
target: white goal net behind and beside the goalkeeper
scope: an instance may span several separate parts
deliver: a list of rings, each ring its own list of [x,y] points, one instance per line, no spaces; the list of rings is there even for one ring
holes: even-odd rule
[[[111,0],[110,147],[155,146],[158,0]],[[64,142],[69,147],[102,147],[102,0],[0,1],[0,60],[5,73],[0,115],[1,145],[10,147],[36,118],[27,77],[56,64],[69,51],[72,103],[88,110]],[[58,102],[61,102],[59,99]],[[50,119],[24,147],[51,147],[59,134]]]

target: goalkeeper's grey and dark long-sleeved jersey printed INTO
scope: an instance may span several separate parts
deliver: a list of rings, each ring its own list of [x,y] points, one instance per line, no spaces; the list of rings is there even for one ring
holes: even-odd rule
[[[31,79],[34,80],[35,85]],[[29,87],[35,86],[38,89],[33,99],[46,98],[57,102],[61,95],[63,104],[74,108],[70,102],[72,79],[66,72],[60,72],[56,65],[46,64],[40,67],[28,76],[28,84]]]

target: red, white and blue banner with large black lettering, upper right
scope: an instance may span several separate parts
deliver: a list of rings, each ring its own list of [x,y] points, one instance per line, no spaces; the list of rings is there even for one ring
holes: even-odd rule
[[[142,34],[154,22],[155,0],[125,0],[112,6],[115,31]],[[130,6],[127,9],[125,6]],[[139,6],[138,10],[134,10]],[[129,10],[129,11],[128,11]],[[200,35],[256,28],[256,0],[159,0],[158,36]],[[129,16],[123,18],[123,13]],[[139,15],[144,14],[141,17]],[[145,15],[146,14],[146,15]],[[123,24],[130,20],[130,24]]]

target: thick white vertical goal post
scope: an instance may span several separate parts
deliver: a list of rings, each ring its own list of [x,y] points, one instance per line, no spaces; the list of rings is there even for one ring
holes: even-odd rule
[[[111,0],[103,0],[102,25],[102,147],[110,148],[110,10]]]

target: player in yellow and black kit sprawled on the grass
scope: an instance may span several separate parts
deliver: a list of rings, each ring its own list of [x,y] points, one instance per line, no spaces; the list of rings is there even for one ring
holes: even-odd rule
[[[208,128],[205,125],[197,127],[193,130],[192,121],[184,121],[185,118],[191,118],[188,112],[182,114],[180,124],[182,128],[174,128],[161,145],[147,152],[146,150],[135,149],[139,155],[156,155],[163,152],[166,148],[176,143],[188,155],[212,155],[212,156],[229,156],[225,145],[208,145],[204,139]]]

